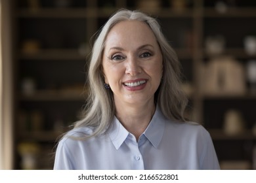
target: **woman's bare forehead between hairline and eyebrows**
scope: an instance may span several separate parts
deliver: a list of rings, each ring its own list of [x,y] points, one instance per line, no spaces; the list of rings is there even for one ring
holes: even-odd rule
[[[106,43],[111,42],[113,44],[120,41],[156,42],[156,37],[146,23],[138,20],[125,20],[114,25],[106,37]]]

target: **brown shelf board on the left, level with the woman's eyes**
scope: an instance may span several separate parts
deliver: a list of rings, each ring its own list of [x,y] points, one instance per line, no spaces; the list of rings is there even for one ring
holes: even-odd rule
[[[44,49],[38,50],[31,53],[20,52],[19,59],[86,59],[86,56],[82,56],[79,54],[79,50],[77,49]]]

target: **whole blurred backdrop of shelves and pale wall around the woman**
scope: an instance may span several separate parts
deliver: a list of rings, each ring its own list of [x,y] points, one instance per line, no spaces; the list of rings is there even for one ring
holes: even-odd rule
[[[182,64],[186,116],[209,131],[221,168],[256,169],[256,1],[0,2],[0,169],[53,169],[85,104],[91,37],[119,8],[159,20]]]

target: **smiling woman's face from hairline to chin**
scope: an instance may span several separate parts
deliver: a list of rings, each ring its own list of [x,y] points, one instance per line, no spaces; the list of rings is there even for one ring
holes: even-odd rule
[[[102,66],[116,105],[154,104],[162,62],[160,46],[148,25],[134,20],[114,25],[106,37]]]

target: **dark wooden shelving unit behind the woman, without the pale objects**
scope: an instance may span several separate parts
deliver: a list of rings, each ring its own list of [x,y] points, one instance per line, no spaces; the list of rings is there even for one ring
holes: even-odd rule
[[[256,3],[236,0],[234,4],[228,5],[230,1],[224,1],[226,10],[218,12],[215,8],[216,1],[213,0],[185,1],[187,5],[182,10],[173,7],[171,0],[162,0],[160,10],[155,12],[148,11],[146,7],[137,7],[135,0],[73,0],[67,1],[70,2],[67,7],[58,7],[54,3],[56,1],[49,0],[37,0],[39,6],[35,7],[30,4],[31,1],[12,1],[13,55],[16,65],[14,139],[17,147],[20,143],[33,142],[42,149],[46,146],[45,149],[54,152],[49,146],[54,147],[57,137],[66,129],[58,131],[58,127],[67,127],[77,120],[84,105],[86,92],[83,84],[91,37],[117,9],[139,8],[158,18],[163,33],[177,51],[185,80],[192,91],[188,92],[188,113],[192,120],[200,122],[209,130],[219,160],[246,161],[249,165],[253,163],[255,135],[251,129],[256,122],[256,93],[205,94],[200,91],[200,65],[211,59],[211,55],[205,50],[205,39],[213,34],[223,33],[226,37],[223,55],[239,59],[243,65],[249,59],[256,58],[245,52],[242,41],[248,34],[256,35]],[[239,29],[241,26],[243,29]],[[237,29],[234,30],[234,27]],[[26,83],[28,81],[29,84]],[[32,92],[24,91],[28,90],[26,87],[24,89],[24,82],[32,87]],[[223,132],[224,112],[233,107],[244,112],[247,131],[230,137]],[[33,115],[36,112],[38,114],[38,111],[39,116],[34,118],[42,123],[42,127],[35,131],[28,124],[33,123]],[[60,124],[54,125],[60,121]],[[20,123],[25,123],[23,126],[28,129],[22,131]],[[251,145],[244,149],[244,144],[248,143]],[[227,157],[229,144],[232,144],[232,152],[238,153]],[[22,169],[22,155],[17,148],[15,151],[14,168]],[[53,161],[38,165],[36,161],[35,159],[36,169],[53,168]]]

